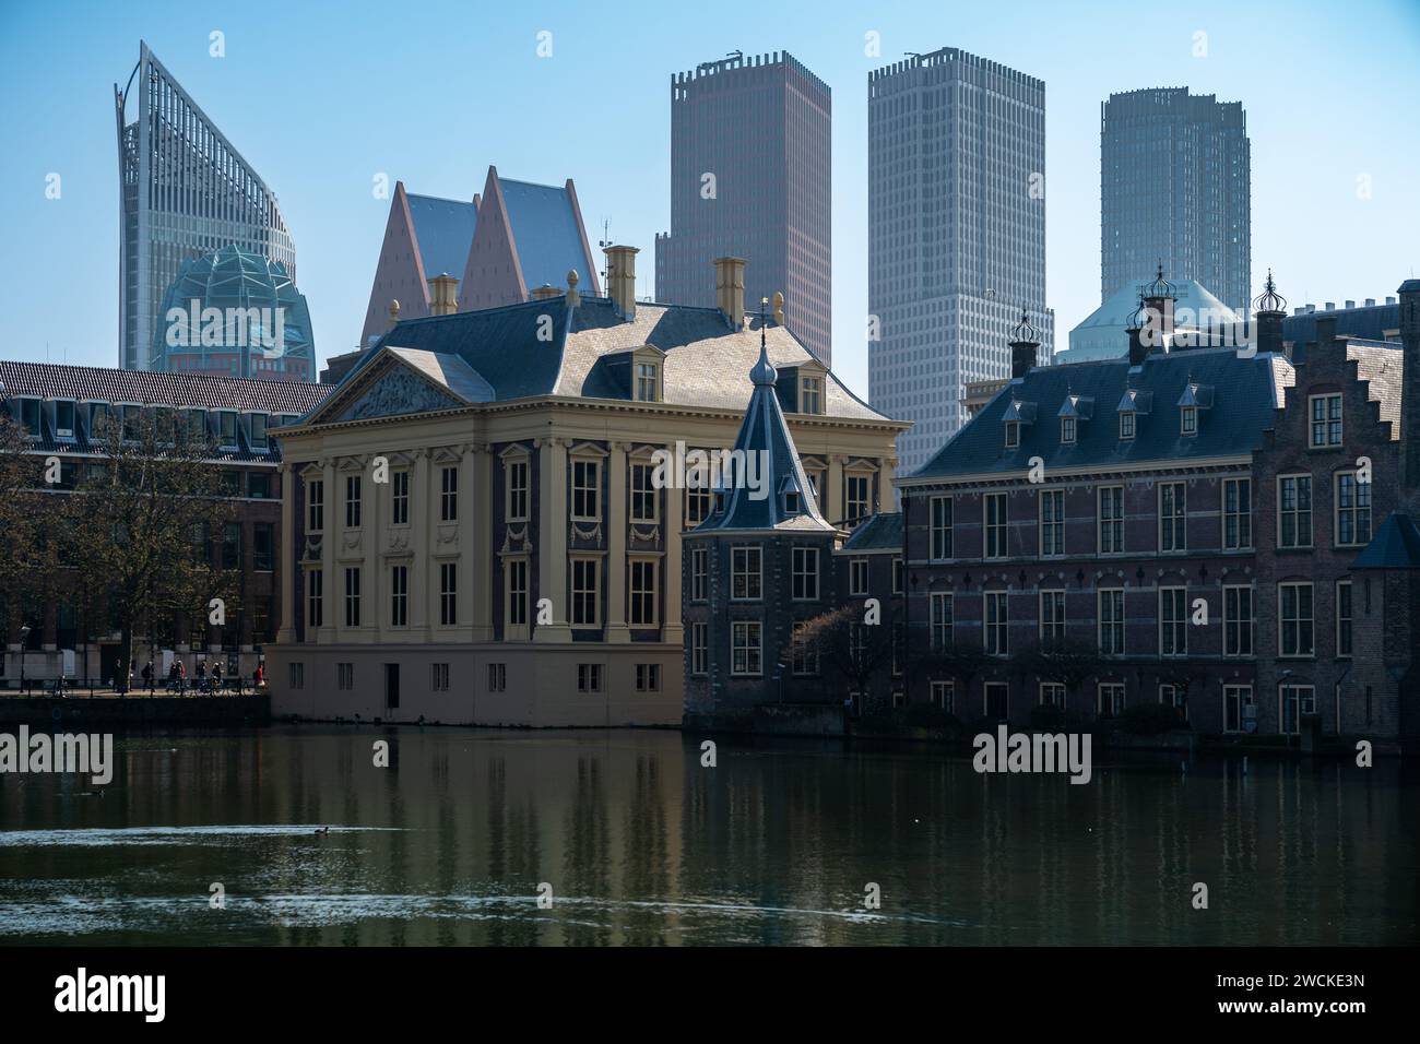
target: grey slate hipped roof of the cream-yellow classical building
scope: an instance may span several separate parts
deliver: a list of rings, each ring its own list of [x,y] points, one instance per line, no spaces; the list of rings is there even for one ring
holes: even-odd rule
[[[388,345],[463,359],[491,391],[480,401],[548,395],[628,401],[629,382],[612,376],[608,357],[653,345],[666,354],[665,402],[743,410],[753,391],[748,372],[760,354],[758,331],[758,320],[730,330],[716,308],[638,303],[635,318],[626,321],[608,298],[584,295],[568,308],[565,297],[555,297],[405,320],[366,349],[339,386],[358,381]],[[814,361],[787,328],[770,324],[764,332],[772,366],[782,371]],[[889,422],[832,374],[824,379],[824,415]]]

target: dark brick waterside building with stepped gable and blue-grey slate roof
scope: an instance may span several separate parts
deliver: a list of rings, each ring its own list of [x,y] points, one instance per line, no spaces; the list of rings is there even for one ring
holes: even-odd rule
[[[1255,351],[1176,345],[1172,287],[1147,297],[1162,337],[1136,321],[1122,359],[1032,368],[1018,328],[1011,382],[899,479],[907,646],[944,653],[909,656],[907,699],[967,722],[1173,703],[1204,733],[1298,733],[1315,714],[1325,734],[1394,736],[1399,720],[1365,710],[1382,687],[1400,696],[1393,678],[1366,695],[1358,643],[1380,609],[1353,567],[1407,489],[1402,413],[1417,396],[1402,395],[1402,369],[1420,327],[1402,351],[1323,322],[1294,365],[1271,281]],[[1409,530],[1386,533],[1411,547]],[[1413,575],[1387,570],[1375,598],[1400,611]],[[1030,653],[1054,643],[1086,651],[1088,678],[1034,670]],[[985,666],[953,670],[957,649]]]

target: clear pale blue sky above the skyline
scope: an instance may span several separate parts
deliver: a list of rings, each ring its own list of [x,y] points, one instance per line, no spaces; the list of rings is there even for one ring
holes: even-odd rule
[[[1292,304],[1394,294],[1420,267],[1420,0],[1237,7],[0,0],[0,358],[118,365],[112,97],[141,38],[275,192],[321,359],[359,338],[389,210],[381,175],[452,199],[481,192],[490,163],[572,178],[588,239],[605,220],[640,247],[650,294],[670,220],[670,77],[734,50],[787,50],[834,92],[834,368],[861,393],[868,72],[907,51],[958,47],[1045,81],[1061,348],[1099,304],[1099,107],[1113,91],[1242,102],[1255,288],[1271,266]]]

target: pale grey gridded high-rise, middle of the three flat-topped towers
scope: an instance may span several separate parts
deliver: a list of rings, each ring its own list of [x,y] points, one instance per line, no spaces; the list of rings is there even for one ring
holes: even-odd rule
[[[1045,307],[1045,84],[944,47],[868,78],[868,389],[913,428],[916,470],[967,419],[963,389],[1010,376]]]

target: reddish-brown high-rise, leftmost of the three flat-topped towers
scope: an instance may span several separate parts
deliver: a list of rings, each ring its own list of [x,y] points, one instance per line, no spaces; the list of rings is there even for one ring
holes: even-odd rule
[[[785,325],[831,365],[832,97],[787,51],[707,61],[670,80],[670,232],[656,300],[713,308],[717,257],[744,300],[784,294]]]

